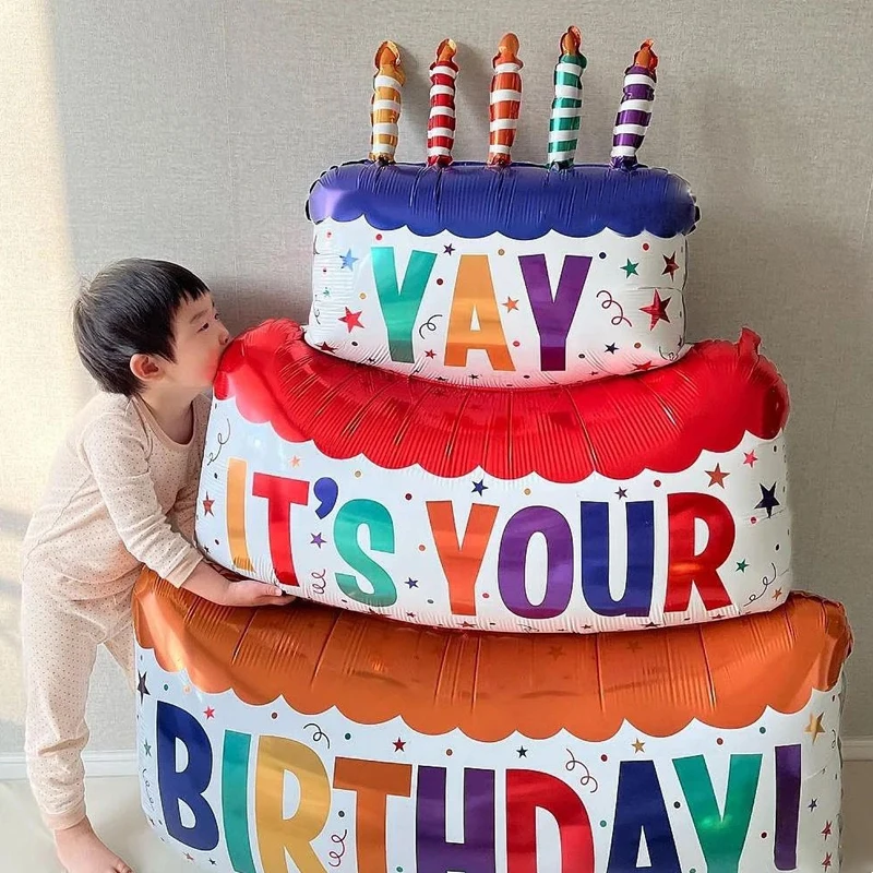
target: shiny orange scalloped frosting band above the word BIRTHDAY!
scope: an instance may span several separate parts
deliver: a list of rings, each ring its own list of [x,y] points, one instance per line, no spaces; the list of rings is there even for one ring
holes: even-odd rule
[[[842,607],[792,595],[773,612],[663,631],[498,634],[398,624],[298,601],[219,607],[144,572],[140,645],[202,691],[299,713],[337,707],[363,725],[400,716],[419,733],[494,742],[566,729],[587,741],[627,720],[666,737],[692,719],[730,729],[766,707],[796,713],[827,691],[851,649]]]

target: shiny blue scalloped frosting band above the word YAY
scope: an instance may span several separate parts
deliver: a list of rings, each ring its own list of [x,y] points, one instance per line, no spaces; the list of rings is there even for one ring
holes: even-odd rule
[[[469,239],[494,232],[537,239],[550,230],[590,237],[607,227],[626,237],[672,237],[691,232],[699,215],[689,183],[662,169],[371,162],[327,170],[307,212],[316,223],[364,216],[380,230],[406,226],[422,237],[449,230]]]

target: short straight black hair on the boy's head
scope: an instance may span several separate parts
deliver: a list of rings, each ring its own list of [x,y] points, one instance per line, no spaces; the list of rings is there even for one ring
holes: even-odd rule
[[[130,359],[142,354],[174,361],[174,315],[208,290],[189,270],[168,261],[135,258],[110,264],[75,301],[73,333],[82,363],[104,391],[139,394],[142,383]]]

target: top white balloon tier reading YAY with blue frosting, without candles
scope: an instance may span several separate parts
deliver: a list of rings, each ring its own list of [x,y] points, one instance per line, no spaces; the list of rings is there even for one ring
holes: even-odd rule
[[[312,188],[315,348],[456,384],[651,369],[685,350],[685,237],[662,169],[348,164]]]

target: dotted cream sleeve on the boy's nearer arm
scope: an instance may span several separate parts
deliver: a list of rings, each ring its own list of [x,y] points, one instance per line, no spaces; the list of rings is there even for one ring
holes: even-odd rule
[[[84,431],[82,450],[124,548],[171,584],[182,585],[203,558],[172,529],[157,499],[145,430],[130,417],[101,416]]]

